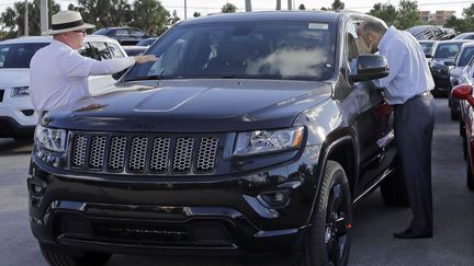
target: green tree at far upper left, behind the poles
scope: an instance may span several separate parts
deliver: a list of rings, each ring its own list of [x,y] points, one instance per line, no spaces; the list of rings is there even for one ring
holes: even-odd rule
[[[41,35],[41,22],[40,22],[40,0],[34,0],[29,2],[29,35]],[[24,35],[24,1],[18,1],[13,3],[13,8],[7,8],[7,10],[1,13],[1,21],[3,22],[2,28],[9,28],[8,31],[2,31],[2,38],[14,38]],[[59,4],[54,0],[48,1],[48,9],[52,11],[49,13],[54,14],[60,10]]]

